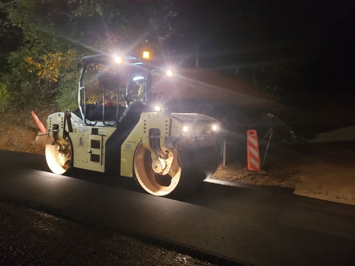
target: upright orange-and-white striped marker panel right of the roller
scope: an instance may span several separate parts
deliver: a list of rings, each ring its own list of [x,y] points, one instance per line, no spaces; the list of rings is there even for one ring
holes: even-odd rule
[[[255,129],[246,131],[246,146],[247,146],[247,158],[248,158],[248,170],[260,171],[260,154],[258,145],[258,135]]]

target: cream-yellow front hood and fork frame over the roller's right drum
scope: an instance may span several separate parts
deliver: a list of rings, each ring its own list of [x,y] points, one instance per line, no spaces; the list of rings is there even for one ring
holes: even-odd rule
[[[210,144],[212,139],[215,140],[212,136],[215,134],[211,134],[213,125],[220,127],[217,120],[195,113],[141,113],[138,124],[121,145],[121,175],[133,177],[134,152],[140,142],[153,156],[150,137],[156,136],[149,136],[150,129],[159,132],[159,146],[164,150],[177,144],[186,144],[190,148],[191,144],[196,147]],[[188,126],[189,131],[183,132],[183,126]]]

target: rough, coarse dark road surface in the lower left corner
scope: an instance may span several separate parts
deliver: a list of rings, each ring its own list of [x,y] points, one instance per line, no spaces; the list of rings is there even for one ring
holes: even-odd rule
[[[214,265],[0,198],[0,265]]]

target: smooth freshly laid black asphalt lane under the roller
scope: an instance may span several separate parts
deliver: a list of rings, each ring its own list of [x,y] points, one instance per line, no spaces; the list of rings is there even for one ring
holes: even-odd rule
[[[43,156],[0,151],[0,193],[255,265],[353,265],[355,207],[281,188],[203,182],[193,196],[140,193],[128,178],[49,173]]]

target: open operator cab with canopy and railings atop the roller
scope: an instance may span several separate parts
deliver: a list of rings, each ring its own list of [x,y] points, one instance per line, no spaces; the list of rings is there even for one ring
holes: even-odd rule
[[[84,56],[79,80],[78,112],[86,125],[115,126],[134,102],[152,99],[154,67],[142,58],[96,54]]]

